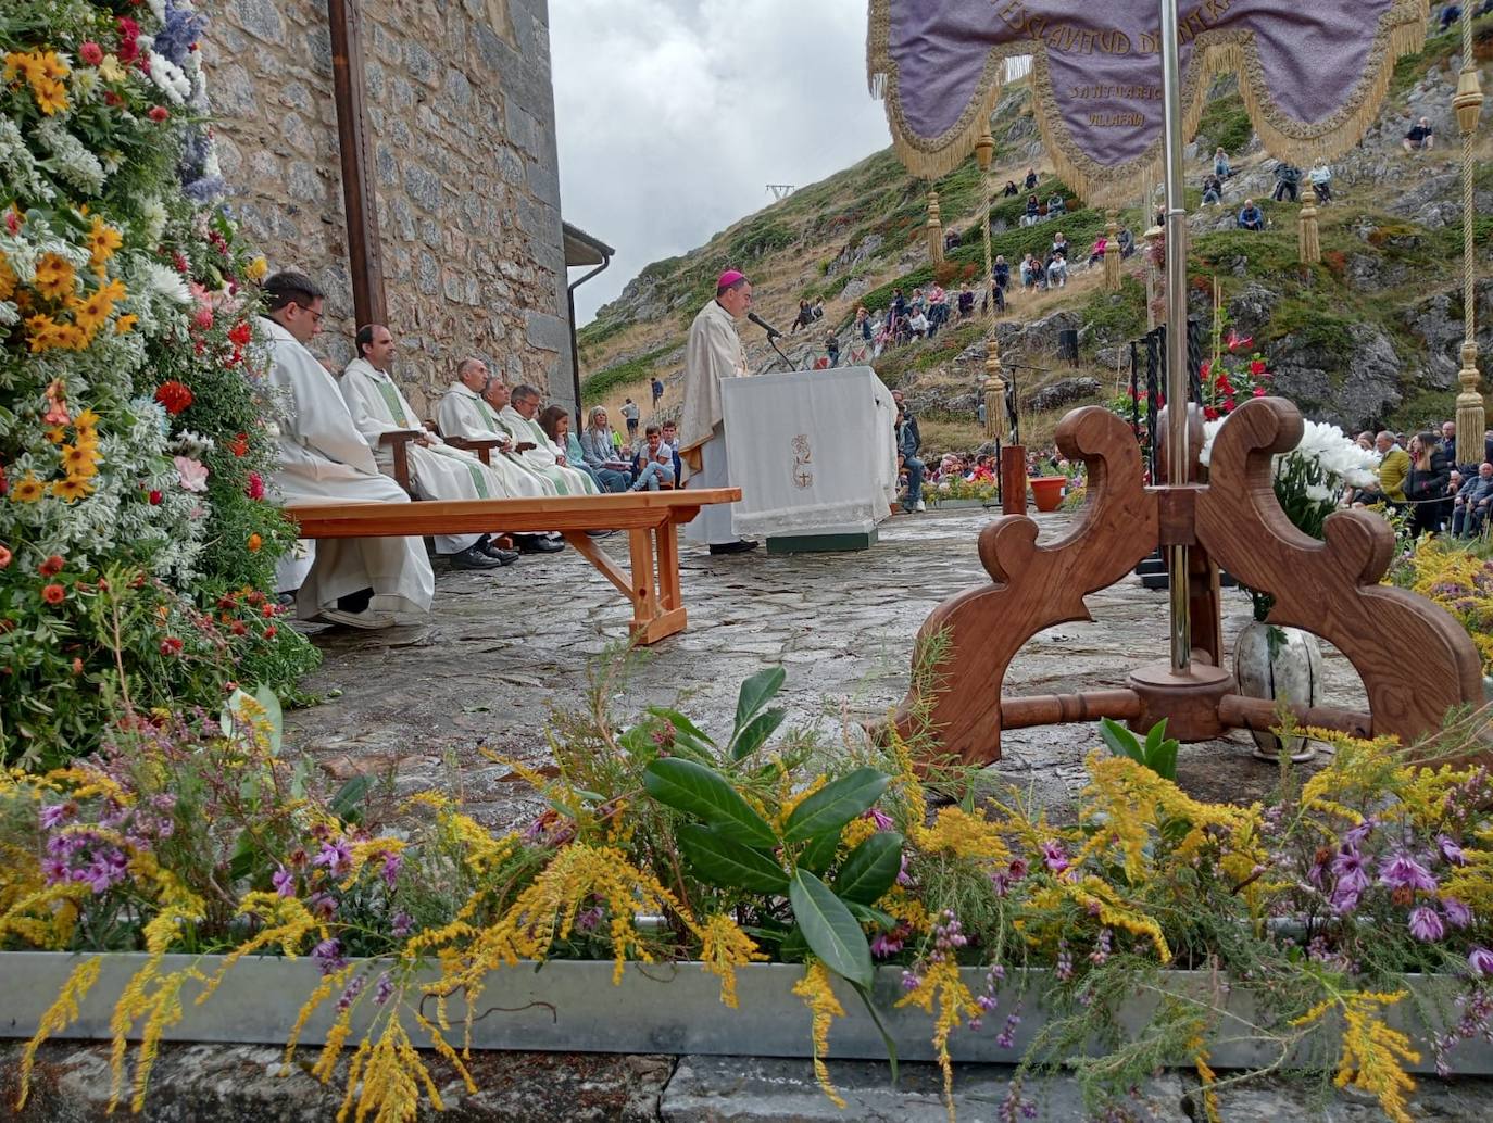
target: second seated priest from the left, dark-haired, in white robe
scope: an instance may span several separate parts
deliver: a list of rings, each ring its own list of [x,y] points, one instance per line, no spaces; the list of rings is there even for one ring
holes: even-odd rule
[[[503,477],[469,452],[427,432],[399,392],[390,370],[394,365],[394,334],[382,324],[358,328],[358,358],[342,371],[342,397],[352,424],[373,449],[379,471],[394,471],[394,449],[387,432],[414,430],[409,444],[409,477],[426,500],[503,500],[512,495]],[[436,553],[451,558],[452,570],[491,570],[518,559],[515,550],[499,549],[488,534],[437,534]]]

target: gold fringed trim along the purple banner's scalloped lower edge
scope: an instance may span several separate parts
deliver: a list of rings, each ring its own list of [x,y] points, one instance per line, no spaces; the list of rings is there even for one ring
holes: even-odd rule
[[[969,155],[979,131],[990,119],[1002,92],[1006,58],[1032,55],[1030,82],[1036,94],[1036,122],[1042,143],[1057,176],[1088,203],[1124,206],[1135,195],[1136,177],[1157,173],[1162,164],[1162,137],[1145,155],[1129,164],[1105,167],[1090,160],[1072,140],[1053,92],[1045,46],[1024,39],[990,49],[976,92],[959,119],[938,137],[915,136],[902,115],[897,94],[897,69],[891,58],[891,0],[869,0],[866,66],[870,92],[887,103],[887,122],[897,158],[912,174],[938,179],[959,167]],[[1426,42],[1429,0],[1396,0],[1380,18],[1378,31],[1368,51],[1371,60],[1357,86],[1326,121],[1302,124],[1280,110],[1265,82],[1265,72],[1254,43],[1254,33],[1244,28],[1217,28],[1194,40],[1193,63],[1182,76],[1182,128],[1187,139],[1197,133],[1209,82],[1223,73],[1239,75],[1239,94],[1254,131],[1266,151],[1293,164],[1332,160],[1359,143],[1378,116],[1400,55],[1414,54]]]

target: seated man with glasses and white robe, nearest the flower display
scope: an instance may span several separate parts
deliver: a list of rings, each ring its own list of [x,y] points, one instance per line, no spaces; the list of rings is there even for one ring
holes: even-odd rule
[[[279,430],[272,480],[282,503],[409,503],[378,470],[333,380],[306,345],[321,330],[325,294],[305,273],[264,282],[269,383]],[[324,538],[296,594],[302,619],[388,628],[427,613],[436,582],[426,544],[408,538]]]

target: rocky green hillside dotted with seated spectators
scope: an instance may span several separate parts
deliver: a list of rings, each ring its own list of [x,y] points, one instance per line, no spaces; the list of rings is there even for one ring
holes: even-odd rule
[[[1477,37],[1480,58],[1493,58],[1493,18],[1478,21]],[[1433,36],[1421,54],[1397,66],[1380,124],[1354,152],[1335,164],[1336,200],[1320,209],[1323,261],[1312,267],[1297,262],[1297,207],[1269,200],[1274,160],[1260,152],[1253,139],[1233,81],[1215,85],[1209,97],[1196,137],[1199,158],[1188,167],[1188,209],[1194,212],[1188,276],[1194,315],[1206,315],[1215,280],[1226,306],[1241,298],[1257,300],[1263,291],[1269,312],[1250,328],[1272,362],[1280,359],[1306,368],[1303,377],[1312,389],[1303,392],[1300,401],[1308,413],[1333,416],[1351,409],[1339,398],[1351,400],[1356,392],[1351,383],[1363,376],[1356,370],[1362,365],[1362,347],[1356,350],[1356,346],[1363,343],[1365,333],[1375,342],[1387,340],[1399,367],[1393,374],[1399,383],[1388,392],[1377,422],[1406,427],[1450,413],[1454,389],[1438,385],[1447,383],[1444,362],[1435,371],[1427,367],[1430,343],[1421,334],[1427,330],[1426,316],[1417,306],[1435,294],[1456,289],[1462,276],[1460,210],[1454,206],[1460,198],[1459,152],[1450,116],[1457,49],[1454,33]],[[1486,86],[1493,85],[1486,66],[1483,81]],[[990,183],[999,192],[1008,179],[1020,182],[1027,167],[1035,166],[1041,174],[1036,194],[1044,200],[1063,194],[1073,209],[1059,225],[1047,222],[1027,228],[1018,222],[1024,192],[1015,198],[997,194],[988,210],[991,251],[1003,254],[1012,265],[1029,251],[1042,252],[1057,228],[1076,249],[1087,251],[1105,227],[1102,210],[1073,200],[1073,192],[1048,172],[1033,143],[1030,112],[1026,89],[1008,91],[997,107],[991,121],[997,149]],[[1399,151],[1399,137],[1405,122],[1424,112],[1442,113],[1444,121],[1436,118],[1442,148],[1408,157]],[[1490,118],[1493,112],[1486,112],[1478,148],[1478,191],[1484,198],[1493,197]],[[1208,170],[1208,154],[1218,145],[1232,154],[1239,174],[1230,182],[1226,209],[1199,213],[1197,188]],[[945,230],[960,234],[959,245],[938,267],[929,261],[923,228],[930,186],[939,192]],[[979,230],[987,213],[984,191],[972,158],[930,185],[908,174],[885,149],[741,219],[690,254],[652,262],[629,283],[623,297],[603,306],[579,331],[585,404],[615,407],[624,395],[646,403],[646,383],[657,374],[666,385],[663,412],[675,410],[688,324],[709,300],[718,273],[729,267],[751,276],[757,310],[784,328],[793,321],[799,300],[826,301],[826,319],[787,342],[796,361],[818,353],[824,334],[844,325],[857,304],[873,313],[887,307],[894,288],[911,292],[933,280],[956,288],[966,280],[978,285],[984,261]],[[1229,215],[1238,210],[1244,192],[1253,194],[1265,209],[1271,222],[1266,233],[1232,228]],[[1136,234],[1150,225],[1139,186],[1135,204],[1120,212],[1120,221]],[[1489,258],[1493,206],[1481,209],[1475,234],[1480,248],[1475,268],[1487,276],[1493,271]],[[1100,291],[1099,270],[1075,271],[1067,288],[1056,292],[1014,294],[1006,322],[1027,325],[1054,312],[1067,312],[1078,318],[1082,333],[1078,367],[1060,367],[1051,353],[1035,349],[1032,340],[1039,333],[1018,333],[1017,343],[1005,345],[1003,358],[1024,364],[1017,374],[1021,394],[1057,379],[1090,376],[1103,386],[1097,397],[1108,397],[1117,371],[1102,361],[1100,352],[1112,362],[1115,345],[1145,331],[1145,271],[1142,252],[1126,262],[1120,294]],[[1459,319],[1460,300],[1450,301],[1438,315]],[[1447,334],[1444,319],[1441,336]],[[987,333],[982,319],[950,325],[938,339],[890,349],[875,362],[888,385],[905,385],[924,401],[935,403],[921,407],[938,437],[930,441],[935,449],[941,447],[939,441],[972,447],[982,440],[969,403],[984,370],[970,359],[978,352],[966,355],[963,362],[960,355]],[[760,333],[748,330],[744,337],[754,365],[770,361],[772,352]],[[1386,349],[1381,346],[1375,353],[1384,367]],[[945,409],[939,404],[954,400],[963,406]],[[1050,432],[1057,413],[1027,419],[1029,443]]]

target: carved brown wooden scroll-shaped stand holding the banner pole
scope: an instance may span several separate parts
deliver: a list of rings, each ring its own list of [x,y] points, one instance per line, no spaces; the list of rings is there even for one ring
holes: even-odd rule
[[[1300,441],[1302,419],[1284,398],[1238,409],[1214,440],[1209,483],[1145,488],[1141,453],[1126,424],[1099,407],[1069,413],[1057,446],[1088,467],[1088,503],[1072,534],[1036,544],[1024,515],[996,519],[979,534],[991,585],[961,592],[927,617],[918,647],[945,634],[930,720],[944,753],[967,764],[1000,759],[1000,731],[1100,717],[1148,729],[1168,719],[1181,741],[1229,728],[1278,723],[1272,702],[1235,692],[1220,665],[1218,565],[1275,598],[1271,623],[1303,628],[1335,644],[1363,679],[1369,713],[1293,708],[1297,720],[1409,743],[1439,728],[1447,710],[1483,696],[1472,640],[1423,597],[1378,585],[1394,534],[1377,515],[1338,512],[1324,541],[1308,537],[1275,500],[1271,458]],[[1193,441],[1193,447],[1197,447]],[[1191,547],[1194,643],[1185,671],[1171,661],[1138,668],[1129,686],[1032,698],[1002,696],[1006,667],[1044,628],[1088,620],[1084,597],[1124,577],[1157,546]],[[914,692],[917,685],[914,686]],[[912,722],[909,693],[897,722]]]

